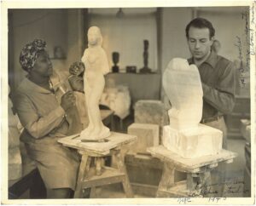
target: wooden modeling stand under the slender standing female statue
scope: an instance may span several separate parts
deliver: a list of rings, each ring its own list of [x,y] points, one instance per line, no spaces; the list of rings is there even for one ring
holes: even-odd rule
[[[82,191],[86,188],[91,188],[90,198],[96,197],[96,186],[118,182],[123,184],[126,197],[133,197],[125,164],[120,157],[120,148],[134,142],[137,137],[113,132],[103,142],[81,142],[81,140],[76,140],[76,137],[79,135],[67,136],[58,140],[64,146],[77,149],[82,155],[74,198],[82,197]],[[107,156],[115,157],[118,169],[103,165],[103,157]],[[92,160],[95,161],[95,165],[90,167]]]

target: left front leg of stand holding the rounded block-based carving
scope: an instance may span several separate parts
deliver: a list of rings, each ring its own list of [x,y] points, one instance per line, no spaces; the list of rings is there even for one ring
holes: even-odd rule
[[[156,197],[162,197],[161,191],[165,192],[170,186],[174,185],[175,169],[170,163],[164,163],[163,174],[156,192]]]

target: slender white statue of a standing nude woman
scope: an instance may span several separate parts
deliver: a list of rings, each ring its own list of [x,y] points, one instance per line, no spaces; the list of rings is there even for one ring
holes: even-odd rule
[[[82,62],[84,72],[84,94],[89,117],[89,125],[80,134],[80,139],[101,140],[110,135],[102,123],[99,101],[105,86],[104,75],[109,72],[108,58],[102,49],[102,33],[96,26],[88,30],[88,48],[84,50]]]

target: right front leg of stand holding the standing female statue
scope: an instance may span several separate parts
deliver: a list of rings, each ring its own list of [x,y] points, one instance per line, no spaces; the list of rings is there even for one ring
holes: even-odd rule
[[[123,187],[124,187],[124,190],[125,190],[125,195],[126,195],[126,197],[133,197],[133,192],[131,190],[130,180],[129,180],[128,175],[127,175],[125,164],[121,160],[120,151],[117,154],[115,154],[114,157],[116,158],[116,162],[117,162],[117,166],[118,166],[119,171],[121,173],[125,174],[125,179],[122,181],[122,184],[123,184]]]

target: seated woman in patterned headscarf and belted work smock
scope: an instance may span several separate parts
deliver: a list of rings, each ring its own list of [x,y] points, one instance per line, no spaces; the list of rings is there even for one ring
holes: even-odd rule
[[[67,112],[75,105],[73,92],[61,96],[59,103],[51,87],[53,74],[46,43],[40,39],[27,43],[20,53],[20,65],[28,73],[15,94],[15,109],[25,128],[20,140],[37,163],[48,190],[48,198],[67,198],[75,190],[79,155],[57,140],[73,129]]]

